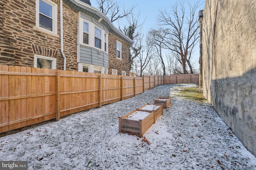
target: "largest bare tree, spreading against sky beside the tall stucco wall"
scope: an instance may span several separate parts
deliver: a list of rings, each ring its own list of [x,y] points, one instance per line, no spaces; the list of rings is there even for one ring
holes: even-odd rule
[[[196,10],[200,6],[200,1],[196,1],[193,5],[189,4],[189,13],[186,13],[184,1],[178,0],[172,6],[170,12],[160,11],[158,21],[162,27],[158,34],[159,39],[163,40],[163,47],[170,49],[180,55],[183,74],[188,74],[186,63],[190,64],[192,50],[199,41],[198,15]],[[190,72],[192,68],[190,68]]]

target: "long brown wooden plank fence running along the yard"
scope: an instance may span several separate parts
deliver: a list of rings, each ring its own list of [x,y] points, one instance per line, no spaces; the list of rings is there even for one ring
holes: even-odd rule
[[[199,74],[190,79],[184,75],[175,77],[176,80],[173,76],[115,76],[0,65],[0,133],[50,119],[60,120],[62,116],[131,98],[162,84],[199,81]]]

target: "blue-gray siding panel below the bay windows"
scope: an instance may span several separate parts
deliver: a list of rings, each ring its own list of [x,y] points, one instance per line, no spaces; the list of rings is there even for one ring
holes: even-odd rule
[[[105,52],[98,53],[93,47],[80,45],[80,63],[93,64],[108,68],[108,54]]]

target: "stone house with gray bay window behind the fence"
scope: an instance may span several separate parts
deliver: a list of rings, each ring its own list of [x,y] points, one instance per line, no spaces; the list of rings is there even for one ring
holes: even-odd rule
[[[0,1],[0,64],[129,75],[132,43],[90,0]]]

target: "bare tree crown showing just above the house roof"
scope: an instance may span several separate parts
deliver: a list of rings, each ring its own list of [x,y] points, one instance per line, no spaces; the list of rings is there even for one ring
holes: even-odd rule
[[[120,9],[118,2],[114,0],[96,0],[96,1],[97,1],[98,9],[100,10],[100,12],[108,16],[111,22],[114,22],[116,20],[119,20],[121,18],[124,18],[132,14],[132,10],[135,8],[135,6],[132,6],[128,10],[126,10],[124,6],[122,6]]]

